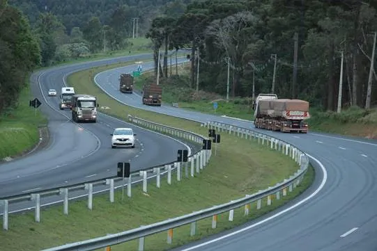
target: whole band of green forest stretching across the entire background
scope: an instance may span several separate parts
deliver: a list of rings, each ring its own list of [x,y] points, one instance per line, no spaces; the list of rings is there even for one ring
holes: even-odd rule
[[[343,107],[369,108],[377,104],[376,6],[371,0],[0,0],[0,112],[17,100],[37,65],[100,51],[104,41],[109,50],[127,47],[134,18],[139,35],[151,38],[156,64],[157,51],[164,51],[162,76],[168,49],[192,48],[192,88],[199,79],[199,89],[224,95],[229,66],[233,97],[275,92],[334,111],[341,83]]]

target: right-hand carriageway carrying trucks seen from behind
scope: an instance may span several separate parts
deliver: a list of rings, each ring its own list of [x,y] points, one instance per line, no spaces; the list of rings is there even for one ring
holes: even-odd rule
[[[144,69],[150,66],[144,63]],[[316,169],[314,185],[282,209],[176,250],[377,250],[377,140],[328,133],[272,132],[255,129],[252,122],[186,111],[169,104],[144,106],[139,94],[124,95],[116,89],[118,73],[131,72],[133,67],[102,72],[95,81],[108,95],[130,106],[269,134],[305,151]]]

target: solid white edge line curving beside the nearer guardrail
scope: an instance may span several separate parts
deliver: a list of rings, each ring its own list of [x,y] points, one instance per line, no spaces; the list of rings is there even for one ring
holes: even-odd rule
[[[302,204],[302,203],[304,203],[304,202],[307,202],[307,200],[310,200],[310,199],[311,199],[312,197],[314,197],[317,193],[319,193],[319,191],[322,190],[323,186],[325,186],[325,183],[326,183],[326,181],[327,181],[327,179],[328,179],[328,172],[326,171],[325,166],[324,166],[320,161],[318,161],[318,159],[314,158],[313,156],[311,156],[311,155],[309,155],[309,154],[307,154],[307,156],[309,156],[309,158],[311,158],[311,159],[313,159],[314,161],[316,161],[316,163],[318,163],[318,165],[321,167],[321,170],[322,170],[322,172],[323,172],[323,179],[322,179],[322,181],[321,181],[321,184],[318,186],[318,188],[316,189],[316,191],[314,191],[313,193],[311,193],[311,195],[309,195],[308,197],[306,197],[304,200],[300,200],[300,202],[294,204],[293,206],[288,207],[287,209],[284,209],[283,211],[280,211],[279,213],[275,213],[273,216],[270,216],[270,217],[268,217],[268,218],[266,218],[266,219],[264,219],[264,220],[261,220],[261,221],[259,221],[259,222],[256,222],[256,223],[253,224],[253,225],[249,225],[249,226],[247,226],[247,227],[244,227],[243,229],[239,229],[239,230],[237,230],[237,231],[235,231],[235,232],[231,232],[231,233],[226,234],[226,235],[224,235],[224,236],[220,236],[220,237],[214,238],[213,240],[206,241],[205,243],[201,243],[201,244],[198,244],[198,245],[194,245],[194,246],[192,246],[192,247],[190,247],[190,248],[186,248],[186,249],[183,249],[183,250],[180,250],[180,251],[194,250],[194,249],[196,249],[196,248],[201,248],[201,247],[203,247],[204,245],[208,245],[208,244],[210,244],[210,243],[215,243],[215,242],[217,242],[217,241],[221,241],[221,240],[224,239],[224,238],[228,238],[228,237],[231,237],[231,236],[233,236],[233,235],[240,234],[240,233],[245,232],[245,231],[247,231],[247,230],[249,230],[249,229],[252,229],[252,228],[254,228],[254,227],[256,227],[256,226],[259,226],[259,225],[263,224],[264,222],[268,222],[268,221],[270,221],[270,220],[273,220],[273,219],[277,218],[278,216],[281,216],[282,214],[284,214],[284,213],[286,213],[286,212],[288,212],[288,211],[291,211],[292,209],[295,209],[296,207],[300,206],[300,204]]]

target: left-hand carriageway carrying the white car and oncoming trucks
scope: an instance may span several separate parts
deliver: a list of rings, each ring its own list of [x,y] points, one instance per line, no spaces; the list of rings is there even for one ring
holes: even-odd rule
[[[106,63],[143,58],[151,58],[151,54],[113,58]],[[70,121],[70,111],[59,110],[59,97],[47,97],[49,88],[60,93],[67,74],[102,65],[102,62],[103,60],[54,67],[33,74],[31,88],[33,94],[42,102],[40,109],[49,118],[50,142],[45,149],[26,158],[0,165],[0,197],[114,176],[118,162],[130,162],[132,171],[169,163],[176,160],[177,149],[188,147],[169,136],[142,129],[102,113],[98,116],[97,123],[75,124]],[[116,127],[134,129],[137,133],[137,145],[134,149],[111,149],[110,133]],[[77,194],[72,193],[73,195]],[[61,197],[49,198],[49,202],[54,200],[61,200]],[[22,207],[15,204],[10,207],[10,211],[16,209]]]

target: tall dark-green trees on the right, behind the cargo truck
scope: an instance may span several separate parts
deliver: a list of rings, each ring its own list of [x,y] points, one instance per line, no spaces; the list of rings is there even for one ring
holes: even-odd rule
[[[179,17],[153,19],[147,36],[155,52],[165,51],[164,65],[167,49],[192,47],[192,88],[199,62],[199,88],[225,94],[229,63],[233,97],[251,97],[254,77],[254,95],[275,92],[336,111],[341,83],[342,106],[369,108],[377,104],[371,68],[376,6],[358,0],[195,1]],[[167,67],[162,72],[167,76]]]

